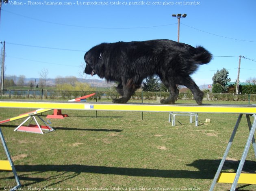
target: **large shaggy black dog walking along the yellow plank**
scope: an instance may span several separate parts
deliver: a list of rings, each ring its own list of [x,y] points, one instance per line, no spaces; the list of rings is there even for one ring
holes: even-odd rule
[[[85,73],[119,83],[116,89],[123,97],[114,99],[114,103],[128,102],[143,79],[157,74],[170,91],[169,98],[161,100],[162,104],[174,104],[177,100],[176,84],[188,87],[197,104],[202,104],[204,93],[190,74],[211,58],[201,46],[194,48],[172,40],[102,43],[85,53]]]

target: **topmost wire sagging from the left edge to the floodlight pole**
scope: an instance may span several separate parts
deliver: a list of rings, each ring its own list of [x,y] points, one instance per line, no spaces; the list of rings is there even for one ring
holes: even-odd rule
[[[20,15],[20,14],[17,14],[17,13],[13,13],[11,11],[7,11],[7,10],[4,10],[4,9],[2,9],[2,11],[5,11],[7,13],[11,13],[13,15],[17,15],[17,16],[20,16],[20,17],[24,17],[24,18],[27,18],[27,19],[32,19],[32,20],[35,20],[35,21],[40,21],[40,22],[44,22],[44,23],[50,23],[50,24],[54,24],[54,25],[62,25],[62,26],[67,26],[67,27],[77,27],[77,28],[91,28],[91,29],[139,29],[139,28],[163,27],[163,26],[169,26],[169,25],[176,25],[177,24],[177,23],[172,23],[172,24],[166,24],[166,25],[145,26],[145,27],[127,27],[127,28],[126,27],[124,27],[124,28],[91,27],[91,26],[81,26],[81,25],[69,25],[69,24],[45,21],[45,20],[41,20],[41,19],[35,19],[35,18],[28,17],[28,16],[25,16],[25,15]]]

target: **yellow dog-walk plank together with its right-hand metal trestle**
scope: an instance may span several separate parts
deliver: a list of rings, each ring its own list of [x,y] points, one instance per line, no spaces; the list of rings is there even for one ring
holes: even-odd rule
[[[144,112],[195,112],[195,113],[235,113],[239,117],[234,126],[234,130],[230,137],[228,146],[223,155],[219,168],[213,179],[210,191],[213,191],[217,182],[232,183],[231,191],[236,189],[237,183],[255,184],[255,174],[241,174],[243,164],[249,151],[250,143],[252,142],[256,157],[256,143],[254,132],[256,129],[256,106],[255,105],[221,105],[221,104],[112,104],[112,103],[68,103],[68,102],[6,102],[0,101],[0,108],[46,108],[46,109],[66,109],[66,110],[102,110],[102,111],[144,111]],[[243,114],[246,115],[247,124],[249,127],[249,136],[245,144],[245,149],[239,163],[236,173],[221,173],[223,164],[226,160],[231,144],[233,142],[236,131]],[[254,117],[253,123],[250,117]],[[240,178],[241,175],[241,178]],[[227,178],[228,177],[228,178]],[[245,177],[245,178],[244,178]]]

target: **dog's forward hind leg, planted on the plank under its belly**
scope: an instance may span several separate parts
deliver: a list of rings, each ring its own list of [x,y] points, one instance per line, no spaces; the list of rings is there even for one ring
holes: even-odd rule
[[[179,90],[177,89],[176,84],[174,83],[174,81],[171,81],[171,79],[169,79],[168,81],[162,79],[162,82],[166,87],[169,88],[170,96],[165,100],[161,100],[161,104],[174,104],[179,96]]]

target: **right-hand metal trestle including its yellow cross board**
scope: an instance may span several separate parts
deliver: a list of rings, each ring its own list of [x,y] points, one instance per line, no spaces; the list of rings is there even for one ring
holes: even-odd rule
[[[242,169],[243,169],[243,165],[245,163],[245,159],[247,157],[247,153],[249,151],[249,147],[250,147],[251,142],[252,142],[252,145],[253,145],[254,154],[255,154],[255,158],[256,158],[256,143],[255,143],[255,139],[254,139],[254,133],[255,133],[255,129],[256,129],[256,115],[255,114],[251,114],[251,115],[252,115],[252,117],[254,117],[253,123],[251,123],[251,120],[250,120],[250,117],[249,117],[250,115],[246,114],[247,124],[248,124],[248,127],[249,127],[249,136],[247,138],[245,149],[243,151],[243,155],[241,157],[241,161],[239,163],[239,166],[238,166],[238,169],[236,171],[236,174],[235,174],[234,178],[232,178],[233,181],[232,181],[232,187],[231,187],[230,191],[235,191],[237,183],[255,184],[255,181],[250,181],[250,179],[254,180],[253,177],[255,177],[255,174],[247,174],[246,182],[242,180],[243,179],[242,176],[244,174],[242,174],[241,178],[239,178],[240,175],[241,175],[241,172],[242,172]],[[213,183],[212,183],[212,185],[210,187],[210,191],[213,191],[214,186],[215,186],[215,184],[217,182],[230,183],[230,181],[228,180],[228,179],[230,179],[230,177],[229,178],[223,178],[223,176],[233,176],[233,174],[234,174],[234,173],[221,173],[221,170],[222,170],[224,162],[225,162],[225,160],[227,158],[228,152],[229,152],[231,144],[232,144],[232,142],[234,140],[234,136],[235,136],[236,131],[237,131],[238,127],[239,127],[239,123],[241,121],[242,116],[243,116],[243,114],[240,114],[238,119],[237,119],[237,121],[236,121],[236,125],[234,126],[234,130],[233,130],[232,135],[230,137],[230,140],[228,142],[228,146],[227,146],[226,151],[225,151],[225,153],[224,153],[224,155],[222,157],[222,160],[221,160],[221,162],[219,164],[219,168],[218,168],[218,170],[217,170],[217,172],[216,172],[216,174],[214,176]],[[222,179],[222,181],[220,181],[221,179]],[[227,181],[223,182],[223,180],[225,180],[225,179]]]

